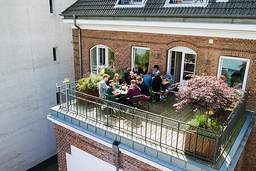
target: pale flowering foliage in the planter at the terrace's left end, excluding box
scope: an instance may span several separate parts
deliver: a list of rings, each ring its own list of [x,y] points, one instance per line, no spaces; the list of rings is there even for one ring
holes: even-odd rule
[[[102,77],[98,74],[90,74],[87,78],[82,78],[77,84],[77,90],[83,92],[84,90],[96,90]]]

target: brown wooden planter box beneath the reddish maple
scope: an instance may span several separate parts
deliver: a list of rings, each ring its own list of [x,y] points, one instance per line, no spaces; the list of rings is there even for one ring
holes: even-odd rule
[[[184,144],[184,151],[189,153],[194,153],[195,150],[195,144],[196,144],[196,155],[205,157],[207,159],[213,160],[214,156],[214,148],[216,141],[210,140],[207,138],[203,138],[201,136],[197,136],[197,143],[196,143],[196,131],[186,130],[188,132],[185,132],[185,144]],[[193,132],[195,134],[191,134],[189,132]],[[190,144],[189,144],[190,141]],[[202,146],[203,145],[203,146]],[[209,151],[209,153],[208,153]],[[187,153],[187,154],[189,154]],[[208,156],[207,156],[208,154]],[[191,155],[191,154],[189,154]],[[203,159],[201,157],[197,157],[200,159]]]

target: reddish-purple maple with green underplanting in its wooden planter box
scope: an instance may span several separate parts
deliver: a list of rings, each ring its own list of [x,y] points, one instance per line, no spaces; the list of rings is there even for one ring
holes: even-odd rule
[[[237,91],[221,79],[213,76],[191,76],[191,79],[177,85],[179,91],[175,94],[177,103],[174,104],[176,112],[180,113],[187,105],[190,105],[193,111],[203,113],[203,115],[197,113],[195,119],[189,122],[192,126],[188,127],[185,133],[184,151],[190,153],[196,151],[197,155],[212,160],[216,141],[210,141],[207,138],[203,141],[203,137],[200,136],[197,136],[196,141],[196,129],[193,126],[218,132],[222,124],[217,118],[209,118],[209,113],[210,111],[214,113],[215,111],[228,110],[233,103],[237,102]],[[193,134],[189,132],[193,132]],[[199,129],[197,134],[216,139],[216,134],[210,134],[205,130]],[[195,144],[197,144],[196,149]]]

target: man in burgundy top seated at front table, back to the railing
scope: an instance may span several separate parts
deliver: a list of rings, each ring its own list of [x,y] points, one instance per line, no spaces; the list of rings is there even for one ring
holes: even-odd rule
[[[131,105],[133,105],[134,103],[138,103],[139,99],[133,99],[133,97],[137,95],[141,95],[141,89],[136,85],[135,80],[131,80],[130,89],[127,91],[127,93],[125,93],[125,97],[129,97],[127,103],[130,103]]]

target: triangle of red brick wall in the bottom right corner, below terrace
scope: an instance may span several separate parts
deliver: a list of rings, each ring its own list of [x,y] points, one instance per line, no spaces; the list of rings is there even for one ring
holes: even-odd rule
[[[237,162],[235,171],[256,170],[256,124],[254,123],[253,130],[248,137],[245,148]]]

